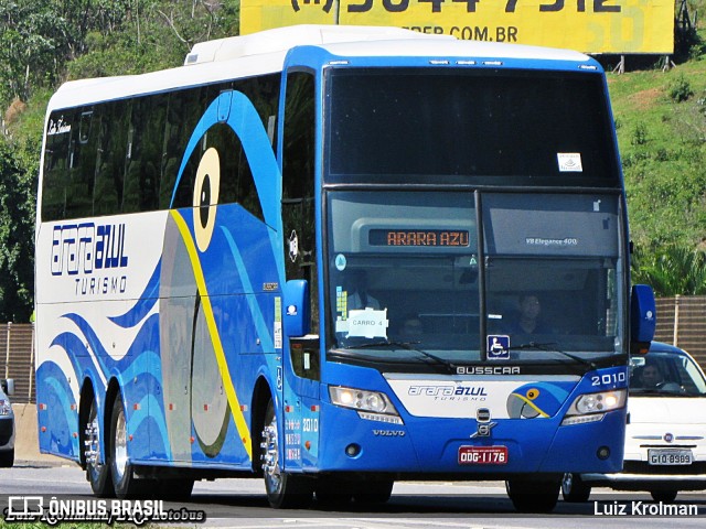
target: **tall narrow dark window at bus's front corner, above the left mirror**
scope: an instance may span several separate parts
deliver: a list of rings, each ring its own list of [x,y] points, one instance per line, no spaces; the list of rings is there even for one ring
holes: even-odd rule
[[[306,279],[311,296],[311,332],[319,328],[314,210],[313,75],[287,75],[282,158],[282,234],[287,279]],[[293,251],[293,248],[297,248]]]

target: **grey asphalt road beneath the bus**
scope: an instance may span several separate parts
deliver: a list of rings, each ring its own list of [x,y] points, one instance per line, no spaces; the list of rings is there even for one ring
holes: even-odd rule
[[[36,462],[18,462],[14,468],[0,471],[0,507],[10,500],[42,498],[44,505],[71,499],[95,507],[96,498],[84,473],[75,465],[45,466]],[[71,498],[71,499],[68,499]],[[109,503],[110,500],[103,500]],[[58,505],[58,504],[54,504]],[[75,508],[68,505],[69,508]],[[259,479],[218,479],[197,482],[188,504],[165,503],[163,510],[204,511],[205,522],[181,527],[247,528],[660,528],[706,526],[706,494],[677,497],[682,510],[695,509],[696,516],[674,516],[659,511],[660,506],[646,494],[612,493],[597,489],[586,504],[559,500],[552,515],[517,515],[507,499],[503,483],[409,483],[395,484],[392,499],[381,506],[355,504],[327,510],[315,501],[308,510],[269,508]],[[693,507],[692,507],[693,506]],[[132,505],[131,508],[133,508]],[[140,506],[138,506],[140,507]],[[151,506],[147,506],[149,508]],[[635,509],[637,507],[637,509]],[[146,508],[142,505],[140,508]],[[7,516],[7,514],[6,514]],[[170,527],[175,523],[167,523]]]

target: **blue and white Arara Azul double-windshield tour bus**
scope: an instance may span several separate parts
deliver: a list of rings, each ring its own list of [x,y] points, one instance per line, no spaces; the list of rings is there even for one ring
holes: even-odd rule
[[[69,82],[36,226],[40,449],[97,496],[503,479],[550,510],[621,469],[654,300],[586,55],[292,26]]]

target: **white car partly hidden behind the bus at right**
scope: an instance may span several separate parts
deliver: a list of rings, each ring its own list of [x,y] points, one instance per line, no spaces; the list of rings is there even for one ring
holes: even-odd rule
[[[586,501],[598,486],[648,490],[665,503],[706,489],[706,378],[688,353],[653,342],[631,358],[622,472],[565,474],[561,494]]]

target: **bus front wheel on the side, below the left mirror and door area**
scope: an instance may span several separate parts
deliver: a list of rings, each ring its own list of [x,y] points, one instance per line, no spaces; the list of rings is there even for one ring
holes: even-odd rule
[[[260,461],[265,477],[265,490],[270,507],[275,509],[300,509],[311,504],[313,487],[311,479],[289,474],[281,469],[279,440],[281,439],[275,403],[267,402],[260,442]]]

